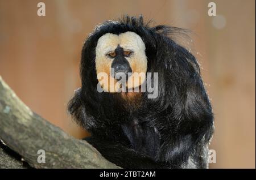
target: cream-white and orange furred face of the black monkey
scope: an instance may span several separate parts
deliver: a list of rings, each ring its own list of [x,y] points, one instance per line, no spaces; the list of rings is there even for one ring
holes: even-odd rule
[[[129,66],[129,72],[132,74],[129,76],[126,87],[138,87],[141,85],[146,76],[139,76],[139,80],[133,80],[135,75],[147,72],[147,57],[145,54],[145,45],[142,38],[134,32],[125,32],[120,35],[114,35],[112,33],[106,33],[98,39],[96,46],[96,72],[104,72],[108,75],[108,86],[105,87],[101,79],[98,81],[105,92],[117,92],[113,85],[110,83],[118,83],[117,79],[114,79],[110,73],[110,69],[114,65],[125,64],[125,67]],[[118,67],[118,66],[114,66]],[[116,70],[117,68],[114,68]],[[128,71],[127,71],[128,72]]]

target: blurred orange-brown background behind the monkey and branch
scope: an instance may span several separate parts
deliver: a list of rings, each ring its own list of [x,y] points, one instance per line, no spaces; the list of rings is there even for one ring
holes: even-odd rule
[[[46,16],[38,16],[44,2]],[[212,100],[217,153],[210,168],[255,168],[255,1],[0,0],[0,75],[32,110],[65,132],[86,132],[67,114],[80,87],[82,42],[95,25],[123,14],[191,29],[192,53]]]

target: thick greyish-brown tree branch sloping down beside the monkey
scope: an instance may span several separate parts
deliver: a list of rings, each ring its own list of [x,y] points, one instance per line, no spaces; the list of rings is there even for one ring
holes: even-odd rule
[[[33,168],[119,168],[85,140],[69,136],[32,112],[1,76],[0,139],[7,145],[0,145],[0,168],[26,168],[22,159]],[[46,152],[46,163],[38,162],[39,149]]]

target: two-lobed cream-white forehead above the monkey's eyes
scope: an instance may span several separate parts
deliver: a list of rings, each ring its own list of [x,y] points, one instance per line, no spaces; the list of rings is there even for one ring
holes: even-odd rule
[[[141,36],[135,32],[127,31],[119,35],[112,33],[106,33],[98,39],[96,49],[103,53],[114,50],[117,46],[121,46],[123,49],[129,50],[145,50],[144,42]]]

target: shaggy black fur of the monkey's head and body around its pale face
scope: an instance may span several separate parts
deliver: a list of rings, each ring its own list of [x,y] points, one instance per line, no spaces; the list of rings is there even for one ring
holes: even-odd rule
[[[140,106],[120,93],[99,93],[95,48],[105,33],[135,32],[146,45],[147,72],[158,72],[157,98]],[[169,35],[183,31],[126,16],[96,27],[82,48],[81,82],[69,113],[92,136],[86,140],[123,168],[207,168],[212,108],[195,57]],[[134,102],[135,103],[135,102]]]

